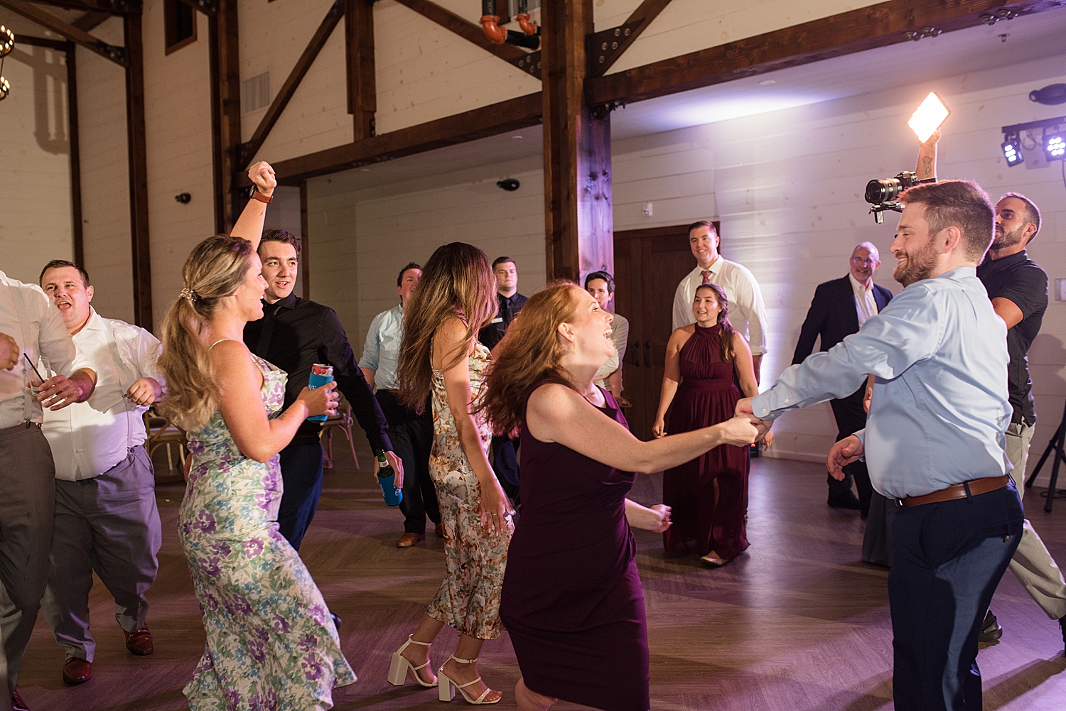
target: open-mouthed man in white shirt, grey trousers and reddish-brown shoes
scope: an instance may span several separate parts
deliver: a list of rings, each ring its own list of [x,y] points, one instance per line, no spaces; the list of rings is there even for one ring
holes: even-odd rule
[[[98,376],[88,402],[46,413],[44,426],[55,460],[55,518],[42,608],[66,651],[63,680],[76,684],[93,677],[94,570],[115,599],[126,647],[152,652],[145,593],[156,581],[162,531],[142,415],[163,392],[161,345],[144,328],[101,318],[90,305],[88,275],[74,262],[50,261],[41,286]]]

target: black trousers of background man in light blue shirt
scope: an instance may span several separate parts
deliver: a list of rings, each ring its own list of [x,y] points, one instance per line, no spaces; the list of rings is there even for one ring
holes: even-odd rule
[[[425,410],[416,415],[400,404],[395,393],[377,391],[377,404],[389,421],[389,439],[392,450],[403,462],[403,530],[406,533],[425,533],[425,519],[440,522],[437,489],[430,479],[430,452],[433,451],[433,405],[427,401]]]

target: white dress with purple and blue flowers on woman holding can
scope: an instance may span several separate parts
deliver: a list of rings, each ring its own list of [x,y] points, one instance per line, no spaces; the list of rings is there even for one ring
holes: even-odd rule
[[[285,372],[252,356],[276,416]],[[189,433],[193,464],[178,518],[207,644],[184,688],[192,711],[305,711],[333,707],[356,680],[322,594],[278,533],[278,457],[260,464],[233,442],[222,413]]]

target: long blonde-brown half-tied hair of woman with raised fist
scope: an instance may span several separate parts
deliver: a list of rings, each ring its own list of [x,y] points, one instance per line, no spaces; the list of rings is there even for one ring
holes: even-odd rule
[[[190,432],[203,430],[219,409],[214,366],[200,334],[222,297],[244,282],[252,255],[252,243],[239,237],[209,237],[200,242],[181,269],[182,295],[163,318],[159,370],[166,378],[166,397],[157,409]]]

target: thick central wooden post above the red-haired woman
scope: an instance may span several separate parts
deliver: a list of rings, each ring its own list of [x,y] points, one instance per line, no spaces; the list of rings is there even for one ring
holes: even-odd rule
[[[594,117],[585,101],[593,0],[546,2],[540,21],[548,278],[577,281],[614,272],[611,117]]]

